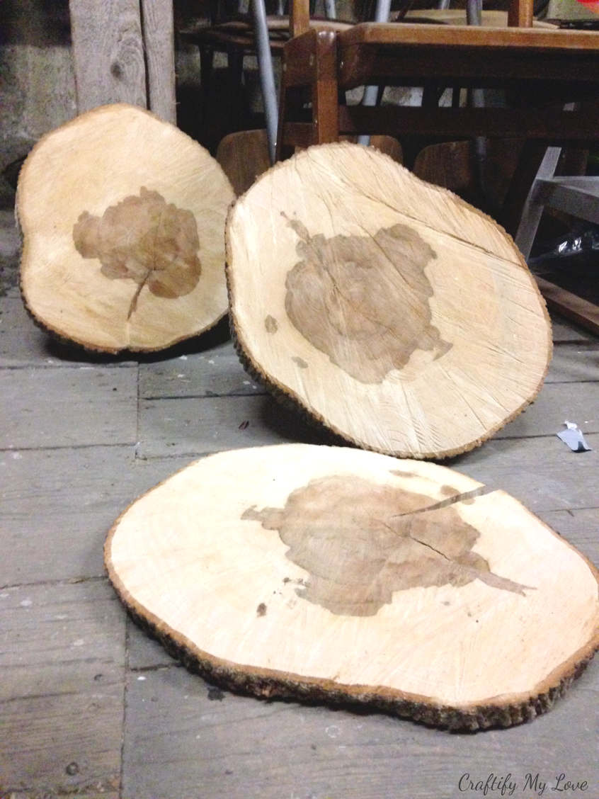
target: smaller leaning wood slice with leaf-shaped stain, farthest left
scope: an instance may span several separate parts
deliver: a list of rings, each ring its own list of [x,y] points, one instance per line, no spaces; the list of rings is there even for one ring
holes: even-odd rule
[[[227,310],[231,185],[153,114],[105,105],[47,134],[18,181],[23,298],[42,327],[105,352],[157,350]]]

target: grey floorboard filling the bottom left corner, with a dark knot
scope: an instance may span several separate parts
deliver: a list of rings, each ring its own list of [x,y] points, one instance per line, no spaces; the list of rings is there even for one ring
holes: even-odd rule
[[[2,795],[118,793],[125,617],[105,580],[3,589],[0,641]]]

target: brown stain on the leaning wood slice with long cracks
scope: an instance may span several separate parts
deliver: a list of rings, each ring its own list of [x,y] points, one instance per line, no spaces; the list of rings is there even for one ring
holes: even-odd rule
[[[300,240],[300,261],[288,272],[285,310],[296,329],[333,364],[362,383],[380,383],[416,350],[435,360],[451,344],[430,324],[433,288],[424,272],[436,253],[407,225],[375,236],[310,236],[288,220]]]

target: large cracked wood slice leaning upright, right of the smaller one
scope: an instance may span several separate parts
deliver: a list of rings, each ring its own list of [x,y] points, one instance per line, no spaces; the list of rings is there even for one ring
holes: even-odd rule
[[[229,213],[227,264],[248,368],[360,447],[456,455],[541,388],[549,316],[514,242],[374,149],[269,170]]]

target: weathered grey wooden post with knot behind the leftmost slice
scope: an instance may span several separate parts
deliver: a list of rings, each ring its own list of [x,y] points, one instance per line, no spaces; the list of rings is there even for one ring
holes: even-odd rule
[[[139,0],[69,0],[77,110],[146,107]]]

